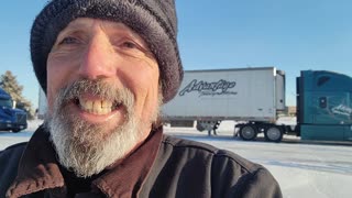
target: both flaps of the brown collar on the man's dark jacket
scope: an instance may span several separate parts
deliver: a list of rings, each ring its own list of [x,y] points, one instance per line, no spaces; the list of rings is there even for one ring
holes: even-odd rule
[[[152,131],[140,147],[127,158],[108,167],[106,174],[94,180],[92,189],[100,189],[109,197],[138,195],[156,158],[162,136],[162,127]],[[21,197],[53,188],[59,188],[62,195],[66,194],[65,179],[59,170],[50,133],[44,130],[44,127],[40,127],[23,153],[18,176],[7,196]],[[55,193],[57,194],[57,189]]]

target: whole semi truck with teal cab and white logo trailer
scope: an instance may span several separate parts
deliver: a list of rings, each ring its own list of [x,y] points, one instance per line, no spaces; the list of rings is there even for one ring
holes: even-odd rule
[[[234,120],[245,140],[264,133],[302,140],[352,141],[352,78],[331,72],[304,70],[297,78],[297,124],[277,124],[285,106],[285,73],[275,67],[187,70],[174,100],[162,109],[170,125],[210,131]]]

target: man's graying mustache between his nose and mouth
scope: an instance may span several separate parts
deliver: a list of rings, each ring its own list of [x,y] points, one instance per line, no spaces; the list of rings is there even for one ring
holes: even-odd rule
[[[78,79],[58,91],[55,107],[62,108],[73,100],[78,100],[85,94],[122,105],[128,112],[131,112],[134,105],[134,96],[128,88],[118,88],[99,79]]]

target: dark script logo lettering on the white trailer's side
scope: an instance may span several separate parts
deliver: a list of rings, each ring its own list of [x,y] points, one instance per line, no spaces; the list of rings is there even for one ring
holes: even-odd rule
[[[227,81],[220,79],[219,81],[208,82],[208,81],[197,81],[197,79],[191,80],[182,91],[179,96],[185,96],[186,92],[198,91],[200,96],[217,96],[217,95],[237,95],[237,92],[229,91],[229,89],[235,86],[235,81]]]

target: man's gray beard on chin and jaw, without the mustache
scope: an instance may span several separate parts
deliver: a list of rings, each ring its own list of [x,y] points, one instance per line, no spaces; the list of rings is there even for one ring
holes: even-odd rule
[[[82,120],[69,123],[64,117],[53,117],[48,121],[59,163],[79,177],[98,174],[123,158],[142,135],[138,125],[135,119],[130,119],[102,139],[102,127]]]

